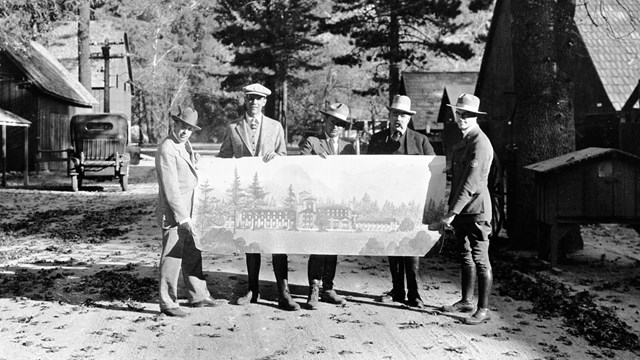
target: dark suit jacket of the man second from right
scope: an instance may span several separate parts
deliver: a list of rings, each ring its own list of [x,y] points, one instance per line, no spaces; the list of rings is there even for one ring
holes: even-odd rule
[[[371,136],[367,154],[435,155],[436,153],[426,135],[407,129],[397,142],[391,139],[391,131],[386,129]]]

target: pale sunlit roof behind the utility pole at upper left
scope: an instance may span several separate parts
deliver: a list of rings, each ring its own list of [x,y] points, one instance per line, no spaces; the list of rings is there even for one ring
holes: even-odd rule
[[[127,35],[111,21],[91,21],[89,24],[89,41],[91,54],[102,54],[105,39],[120,44],[110,45],[110,54],[124,55],[129,53]],[[49,34],[47,49],[78,78],[78,22],[63,21],[57,23]],[[91,87],[104,88],[104,60],[91,59]],[[112,58],[109,64],[111,76],[131,80],[131,61],[129,57]]]

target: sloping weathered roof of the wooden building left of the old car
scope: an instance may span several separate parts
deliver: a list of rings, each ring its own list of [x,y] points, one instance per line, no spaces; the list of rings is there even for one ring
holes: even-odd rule
[[[56,60],[51,53],[35,41],[19,48],[4,48],[40,91],[76,106],[91,107],[96,99]]]

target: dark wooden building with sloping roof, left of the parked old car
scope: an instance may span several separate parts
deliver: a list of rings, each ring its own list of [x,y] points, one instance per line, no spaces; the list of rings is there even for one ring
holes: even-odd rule
[[[66,168],[62,161],[70,146],[69,121],[91,112],[97,103],[42,45],[31,42],[0,49],[0,108],[31,122],[28,163],[31,170]],[[19,128],[7,129],[7,152],[23,154]],[[24,159],[9,156],[8,170],[23,171]]]

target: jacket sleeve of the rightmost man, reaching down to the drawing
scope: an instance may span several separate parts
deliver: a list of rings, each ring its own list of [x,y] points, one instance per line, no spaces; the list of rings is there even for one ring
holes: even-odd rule
[[[478,146],[471,154],[471,160],[464,169],[464,177],[460,183],[456,197],[451,202],[449,211],[460,214],[469,201],[487,189],[487,177],[493,157],[493,151],[489,147]],[[483,188],[484,187],[484,188]]]

